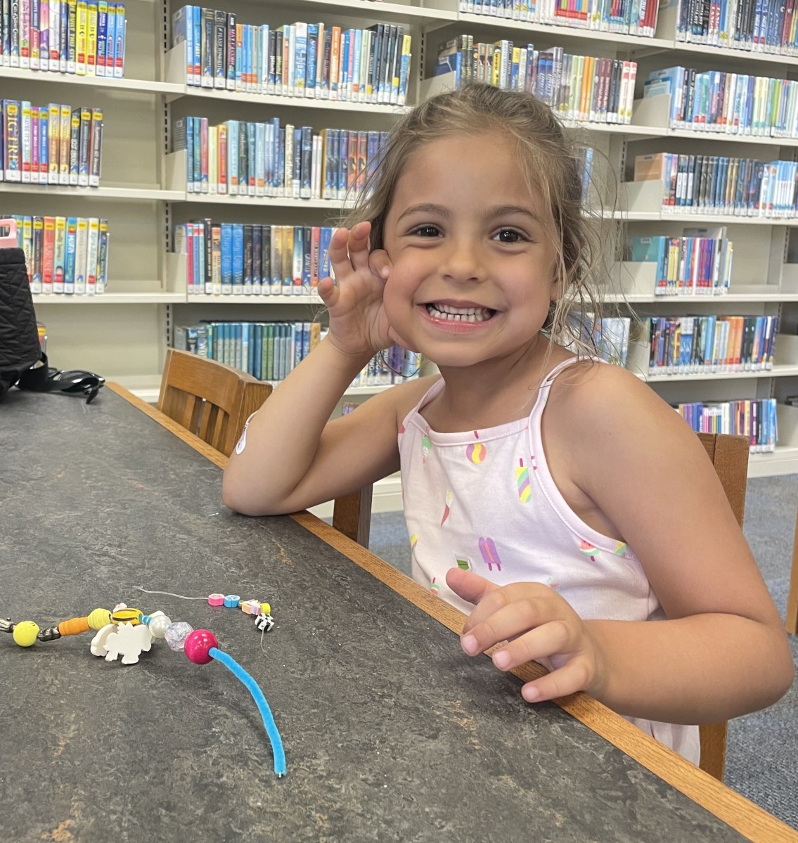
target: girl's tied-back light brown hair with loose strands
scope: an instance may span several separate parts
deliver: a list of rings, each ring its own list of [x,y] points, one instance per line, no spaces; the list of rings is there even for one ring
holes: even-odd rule
[[[577,352],[595,353],[592,322],[601,318],[603,305],[591,285],[603,263],[603,237],[597,225],[602,215],[583,207],[581,148],[549,106],[531,94],[469,84],[417,105],[390,132],[382,158],[368,175],[366,190],[345,218],[345,226],[370,222],[371,248],[382,249],[385,217],[410,159],[427,142],[478,132],[515,139],[522,177],[542,206],[560,284],[545,332]]]

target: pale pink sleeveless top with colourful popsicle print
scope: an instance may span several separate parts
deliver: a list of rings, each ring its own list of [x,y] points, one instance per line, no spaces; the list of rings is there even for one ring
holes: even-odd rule
[[[444,389],[439,380],[399,427],[413,577],[466,614],[473,606],[446,585],[453,566],[500,585],[544,583],[585,620],[664,617],[635,553],[585,524],[549,474],[541,418],[551,384],[572,362],[547,375],[526,418],[436,432],[421,413]],[[697,726],[629,719],[698,764]]]

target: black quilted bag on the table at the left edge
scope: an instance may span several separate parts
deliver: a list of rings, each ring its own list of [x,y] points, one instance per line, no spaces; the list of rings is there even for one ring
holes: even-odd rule
[[[0,234],[0,398],[41,357],[24,251]]]

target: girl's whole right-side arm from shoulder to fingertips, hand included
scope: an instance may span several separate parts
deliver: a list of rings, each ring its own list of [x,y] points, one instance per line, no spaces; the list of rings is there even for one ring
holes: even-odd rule
[[[544,415],[560,491],[635,550],[667,620],[581,620],[541,583],[453,569],[447,584],[478,604],[463,649],[509,642],[492,657],[501,669],[550,658],[528,701],[586,690],[630,717],[700,723],[778,700],[794,674],[785,631],[699,438],[624,370],[562,380]]]

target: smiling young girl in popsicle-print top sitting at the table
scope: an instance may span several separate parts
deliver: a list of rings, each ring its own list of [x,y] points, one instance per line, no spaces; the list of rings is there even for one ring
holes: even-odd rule
[[[413,576],[469,613],[465,652],[507,642],[497,668],[551,670],[526,700],[585,690],[698,763],[673,724],[767,706],[793,665],[698,437],[557,342],[596,251],[564,132],[470,86],[399,123],[372,186],[330,245],[329,334],[251,419],[224,501],[292,513],[401,469]],[[328,421],[394,342],[440,375]]]

